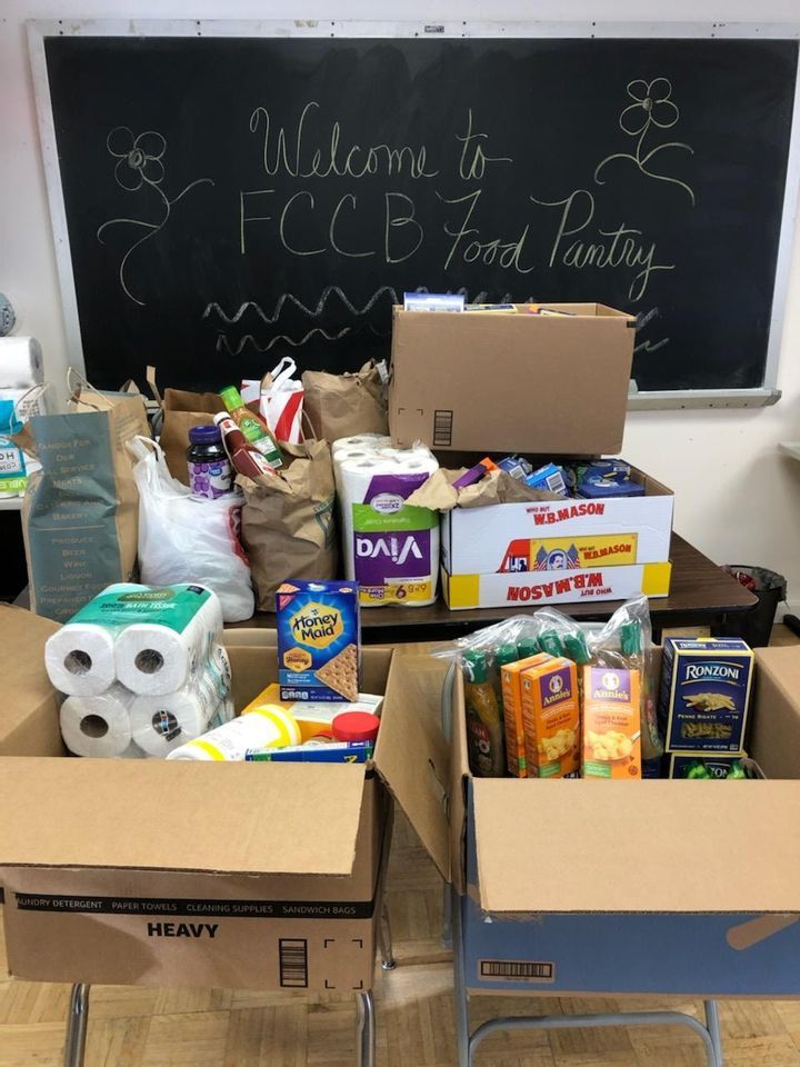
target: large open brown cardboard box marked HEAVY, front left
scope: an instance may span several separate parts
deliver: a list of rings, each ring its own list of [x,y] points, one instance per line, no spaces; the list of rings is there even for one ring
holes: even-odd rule
[[[376,767],[68,757],[42,666],[56,628],[0,607],[0,885],[20,978],[369,989],[387,795]],[[229,636],[234,701],[274,634]],[[364,651],[383,691],[391,654]]]

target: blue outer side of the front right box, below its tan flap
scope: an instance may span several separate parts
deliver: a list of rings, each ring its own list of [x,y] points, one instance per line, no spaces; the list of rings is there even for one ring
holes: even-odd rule
[[[800,994],[800,916],[787,925],[784,917],[758,913],[486,914],[476,903],[480,880],[471,780],[468,794],[470,889],[461,897],[468,989],[529,996]]]

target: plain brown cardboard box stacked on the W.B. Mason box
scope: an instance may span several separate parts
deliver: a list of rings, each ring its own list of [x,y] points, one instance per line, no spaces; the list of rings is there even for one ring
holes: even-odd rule
[[[618,452],[636,318],[602,303],[548,307],[570,315],[394,308],[392,442],[481,453]]]

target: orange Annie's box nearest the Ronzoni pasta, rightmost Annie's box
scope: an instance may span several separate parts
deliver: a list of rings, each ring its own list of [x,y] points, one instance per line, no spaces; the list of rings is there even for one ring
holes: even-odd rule
[[[638,670],[583,668],[583,777],[641,778]]]

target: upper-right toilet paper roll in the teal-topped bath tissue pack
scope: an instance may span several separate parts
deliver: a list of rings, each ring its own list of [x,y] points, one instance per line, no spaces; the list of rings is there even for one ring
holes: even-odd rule
[[[211,595],[182,629],[136,622],[117,637],[117,677],[133,692],[166,696],[194,680],[222,632],[222,609]]]

